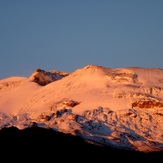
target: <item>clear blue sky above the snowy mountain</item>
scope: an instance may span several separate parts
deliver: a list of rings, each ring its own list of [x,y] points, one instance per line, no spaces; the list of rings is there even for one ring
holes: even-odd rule
[[[0,0],[0,79],[89,64],[163,68],[162,0]]]

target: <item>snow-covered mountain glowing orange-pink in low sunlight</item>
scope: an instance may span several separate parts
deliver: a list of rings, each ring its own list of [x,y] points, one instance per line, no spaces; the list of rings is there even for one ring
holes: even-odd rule
[[[0,129],[38,126],[129,151],[163,151],[163,70],[88,65],[0,80]]]

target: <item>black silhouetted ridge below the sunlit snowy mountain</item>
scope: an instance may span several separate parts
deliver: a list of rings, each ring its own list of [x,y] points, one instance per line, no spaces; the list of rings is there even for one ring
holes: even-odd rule
[[[0,130],[1,156],[23,161],[160,161],[163,152],[141,153],[102,147],[85,142],[81,137],[64,134],[52,129],[16,127]],[[3,155],[4,154],[4,155]],[[12,157],[10,157],[12,155]],[[58,160],[58,161],[56,161]]]

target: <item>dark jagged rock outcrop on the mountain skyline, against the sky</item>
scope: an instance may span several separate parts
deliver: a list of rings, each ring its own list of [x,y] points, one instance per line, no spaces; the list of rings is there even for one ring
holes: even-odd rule
[[[29,77],[31,81],[38,83],[41,86],[45,86],[53,81],[62,79],[63,77],[69,75],[67,72],[61,71],[50,71],[47,72],[40,68],[36,69],[36,71]]]

